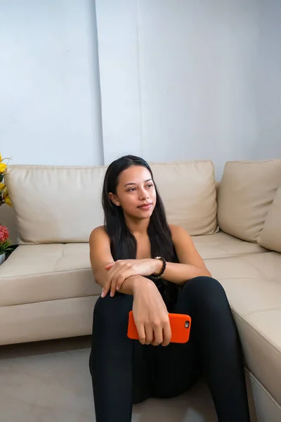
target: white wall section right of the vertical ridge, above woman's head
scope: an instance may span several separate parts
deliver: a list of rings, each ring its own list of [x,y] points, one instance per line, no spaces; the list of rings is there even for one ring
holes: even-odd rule
[[[105,162],[281,157],[280,0],[96,0]]]

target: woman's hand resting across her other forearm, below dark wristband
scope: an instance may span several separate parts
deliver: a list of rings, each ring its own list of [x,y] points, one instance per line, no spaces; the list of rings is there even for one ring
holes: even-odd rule
[[[108,270],[107,281],[103,287],[102,298],[110,290],[110,296],[114,296],[124,281],[131,276],[150,276],[153,273],[159,273],[162,268],[160,260],[118,260],[105,266]]]

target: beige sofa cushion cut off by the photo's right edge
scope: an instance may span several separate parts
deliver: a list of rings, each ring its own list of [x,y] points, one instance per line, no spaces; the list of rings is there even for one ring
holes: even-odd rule
[[[281,187],[270,206],[258,243],[265,248],[281,252]]]

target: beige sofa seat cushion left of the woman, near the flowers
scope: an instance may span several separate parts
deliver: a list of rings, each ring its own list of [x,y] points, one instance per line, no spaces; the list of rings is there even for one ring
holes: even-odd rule
[[[0,306],[100,295],[89,243],[20,245],[0,267]]]

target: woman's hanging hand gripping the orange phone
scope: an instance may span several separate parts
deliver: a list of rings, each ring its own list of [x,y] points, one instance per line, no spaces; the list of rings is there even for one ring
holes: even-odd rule
[[[167,346],[171,340],[169,314],[155,283],[142,279],[133,291],[133,319],[143,345]]]

